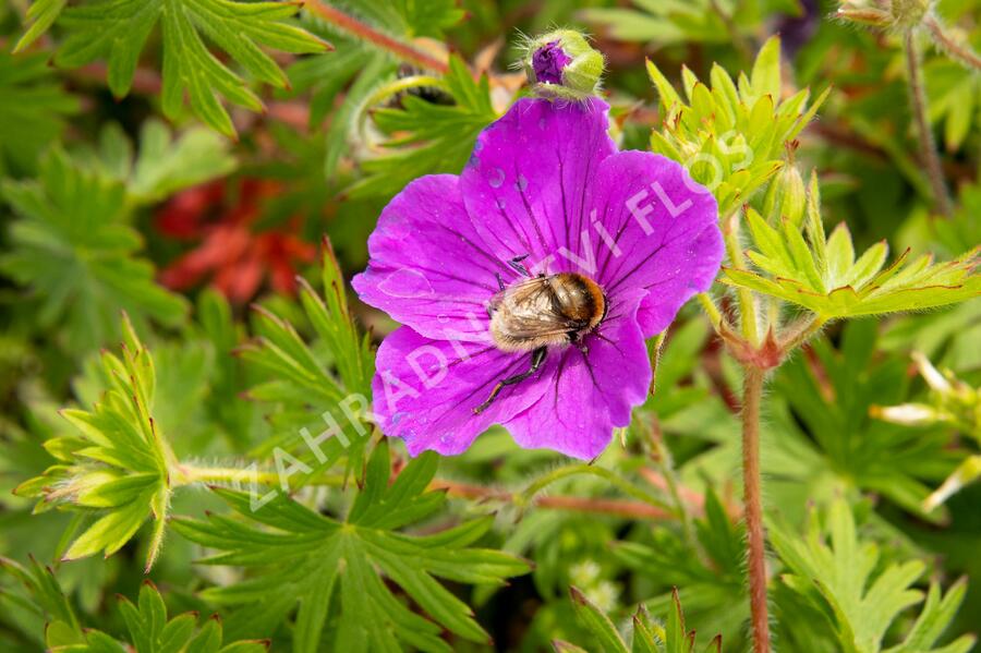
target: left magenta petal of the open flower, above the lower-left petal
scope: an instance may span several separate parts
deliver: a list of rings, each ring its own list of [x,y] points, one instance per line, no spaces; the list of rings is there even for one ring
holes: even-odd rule
[[[371,263],[352,285],[363,301],[432,338],[487,340],[496,274],[511,274],[474,231],[459,178],[416,179],[385,207]]]

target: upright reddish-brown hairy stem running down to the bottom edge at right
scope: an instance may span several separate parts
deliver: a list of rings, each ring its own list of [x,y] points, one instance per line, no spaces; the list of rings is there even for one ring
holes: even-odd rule
[[[762,395],[763,370],[747,365],[742,394],[742,486],[753,653],[770,653],[765,533],[763,531],[763,497],[760,477],[760,401]]]

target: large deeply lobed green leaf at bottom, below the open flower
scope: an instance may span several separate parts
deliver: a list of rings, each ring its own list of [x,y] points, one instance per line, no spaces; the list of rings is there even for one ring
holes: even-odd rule
[[[216,489],[244,521],[218,515],[204,522],[175,518],[174,528],[218,551],[205,563],[255,571],[242,582],[206,590],[207,600],[241,605],[243,618],[269,625],[281,622],[299,603],[294,651],[449,651],[439,637],[444,629],[476,642],[487,634],[436,579],[500,584],[528,566],[501,552],[470,547],[489,528],[488,519],[431,535],[397,531],[443,505],[443,493],[425,492],[436,461],[435,456],[417,458],[389,484],[388,447],[379,444],[343,521],[281,495],[253,511],[246,494]],[[433,620],[397,600],[383,578]],[[324,630],[328,610],[338,615],[334,632]]]

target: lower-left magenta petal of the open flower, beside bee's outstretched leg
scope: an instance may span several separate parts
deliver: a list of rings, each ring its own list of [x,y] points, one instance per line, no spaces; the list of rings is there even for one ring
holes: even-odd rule
[[[529,368],[531,354],[504,353],[477,342],[449,342],[400,327],[382,342],[372,384],[374,412],[386,435],[405,440],[413,456],[432,449],[461,454],[492,424],[542,397],[541,374],[509,386],[480,415],[473,409],[498,380]]]

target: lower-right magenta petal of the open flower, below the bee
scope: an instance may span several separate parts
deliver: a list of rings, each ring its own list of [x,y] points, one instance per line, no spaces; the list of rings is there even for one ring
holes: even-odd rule
[[[576,347],[549,352],[544,396],[505,423],[524,448],[555,449],[583,460],[598,456],[613,430],[630,423],[651,386],[651,363],[634,318],[641,292],[625,293],[619,317],[605,322],[600,335],[585,338],[585,354]]]

